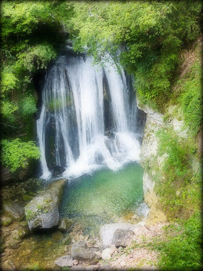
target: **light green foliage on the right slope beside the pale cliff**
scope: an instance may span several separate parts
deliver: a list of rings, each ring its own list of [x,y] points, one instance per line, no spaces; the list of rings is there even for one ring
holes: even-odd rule
[[[201,203],[201,165],[196,157],[197,147],[192,139],[181,138],[172,129],[161,129],[157,136],[158,155],[145,161],[145,170],[155,181],[159,208],[169,219],[186,219],[199,210]]]

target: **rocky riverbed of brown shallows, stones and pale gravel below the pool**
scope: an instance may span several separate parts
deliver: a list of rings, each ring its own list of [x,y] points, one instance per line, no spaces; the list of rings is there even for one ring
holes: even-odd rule
[[[37,208],[37,199],[41,202],[51,195],[58,206],[58,197],[55,197],[60,195],[63,183],[58,181],[57,185],[45,188],[40,180],[29,179],[3,187],[1,270],[64,270],[67,267],[70,270],[93,271],[156,267],[157,253],[149,251],[147,247],[138,248],[136,244],[163,234],[161,228],[167,222],[150,225],[147,220],[142,221],[143,217],[128,214],[116,221],[119,223],[101,226],[97,237],[85,234],[82,225],[65,218],[58,219],[57,225],[51,225],[48,230],[40,229],[42,223],[33,230],[33,225],[28,223],[29,208],[35,210],[31,203]],[[35,210],[37,221],[48,213],[46,207],[39,206],[39,210]],[[56,213],[55,210],[54,215]],[[53,213],[50,212],[50,215]]]

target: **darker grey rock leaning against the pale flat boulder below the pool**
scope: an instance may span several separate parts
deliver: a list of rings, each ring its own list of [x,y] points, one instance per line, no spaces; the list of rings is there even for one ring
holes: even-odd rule
[[[112,243],[115,244],[116,247],[126,247],[133,235],[134,232],[131,229],[116,229]]]

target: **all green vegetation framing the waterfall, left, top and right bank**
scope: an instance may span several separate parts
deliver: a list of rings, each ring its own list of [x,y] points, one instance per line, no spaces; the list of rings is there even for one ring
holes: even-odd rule
[[[33,143],[33,117],[38,111],[34,78],[44,73],[67,39],[72,40],[75,51],[91,54],[95,62],[105,62],[106,51],[119,58],[134,76],[141,105],[166,113],[165,120],[184,120],[187,139],[171,129],[157,135],[159,155],[167,154],[163,167],[158,167],[157,157],[145,162],[149,174],[154,169],[157,172],[153,178],[160,208],[169,219],[181,218],[180,224],[186,228],[182,235],[176,231],[174,239],[169,235],[160,245],[160,266],[177,270],[187,264],[196,268],[200,261],[200,49],[194,48],[195,60],[184,75],[180,66],[182,54],[190,52],[201,35],[201,20],[201,2],[190,0],[1,2],[1,162],[12,171],[26,166],[28,158],[39,158]],[[169,104],[175,105],[173,112],[166,110]],[[188,239],[189,225],[195,227],[190,229],[192,240]],[[166,260],[169,249],[173,257],[167,254]],[[174,257],[180,251],[182,258]],[[196,259],[187,251],[197,255]]]

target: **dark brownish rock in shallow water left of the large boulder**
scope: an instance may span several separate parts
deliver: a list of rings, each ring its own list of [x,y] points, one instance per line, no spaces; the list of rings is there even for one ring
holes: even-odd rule
[[[23,202],[21,201],[4,202],[3,210],[11,218],[17,221],[21,221],[25,217],[24,205],[23,205]]]

